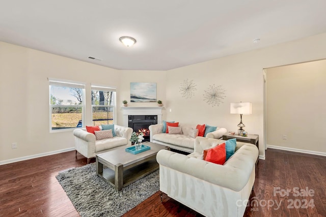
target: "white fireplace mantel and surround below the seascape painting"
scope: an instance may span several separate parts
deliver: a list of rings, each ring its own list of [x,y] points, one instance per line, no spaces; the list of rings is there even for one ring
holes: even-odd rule
[[[128,127],[128,115],[157,115],[157,123],[162,123],[162,108],[164,107],[121,107],[123,126]]]

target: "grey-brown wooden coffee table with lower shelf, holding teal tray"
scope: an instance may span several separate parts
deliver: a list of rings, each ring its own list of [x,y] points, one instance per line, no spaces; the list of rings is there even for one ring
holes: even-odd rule
[[[96,155],[96,174],[112,184],[118,191],[128,184],[158,170],[156,154],[161,149],[170,149],[165,145],[143,142],[151,149],[132,154],[125,147]],[[107,168],[103,169],[103,165]]]

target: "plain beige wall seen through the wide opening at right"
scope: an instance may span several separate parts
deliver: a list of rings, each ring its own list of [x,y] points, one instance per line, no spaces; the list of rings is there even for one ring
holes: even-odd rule
[[[326,153],[326,60],[267,69],[266,76],[267,144]]]

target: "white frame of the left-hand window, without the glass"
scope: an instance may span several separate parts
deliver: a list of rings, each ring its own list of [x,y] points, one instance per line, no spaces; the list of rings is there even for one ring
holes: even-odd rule
[[[80,105],[76,105],[76,107],[82,108],[82,128],[85,128],[85,111],[86,111],[86,103],[85,103],[85,86],[86,83],[84,82],[77,82],[77,81],[70,81],[64,79],[57,79],[57,78],[48,78],[49,81],[49,130],[50,133],[58,133],[58,132],[66,132],[66,131],[73,131],[75,128],[67,128],[67,129],[56,129],[52,130],[52,107],[55,105],[51,105],[51,94],[50,94],[50,87],[51,85],[54,86],[62,86],[62,87],[73,87],[73,88],[81,88],[83,89],[83,102]],[[65,107],[64,105],[62,107]],[[69,107],[69,106],[67,106]]]

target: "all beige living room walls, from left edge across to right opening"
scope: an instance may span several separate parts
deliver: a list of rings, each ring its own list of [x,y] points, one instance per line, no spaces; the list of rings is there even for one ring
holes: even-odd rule
[[[236,131],[239,122],[239,115],[229,114],[230,103],[252,102],[253,114],[243,115],[243,122],[249,133],[259,134],[260,156],[264,157],[263,69],[324,59],[325,40],[326,34],[321,34],[167,72],[117,71],[0,42],[0,163],[74,147],[71,132],[49,133],[47,77],[86,82],[87,89],[91,82],[116,86],[118,124],[122,124],[121,102],[130,96],[131,81],[157,82],[157,97],[166,107],[164,119],[207,123],[228,131]],[[180,96],[179,86],[184,79],[197,83],[191,100]],[[224,103],[218,107],[202,100],[203,91],[212,84],[226,90]],[[91,99],[90,92],[86,98]],[[134,104],[143,105],[155,106]],[[91,125],[90,114],[86,124]],[[11,149],[13,142],[18,142],[17,149]]]

